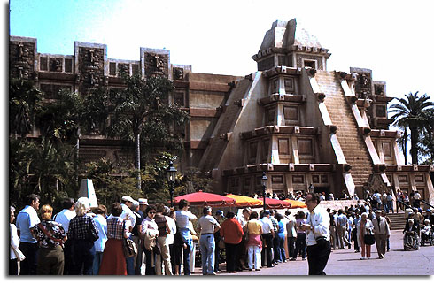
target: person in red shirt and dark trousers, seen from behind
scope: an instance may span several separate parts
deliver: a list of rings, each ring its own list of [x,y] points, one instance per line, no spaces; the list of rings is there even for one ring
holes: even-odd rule
[[[226,271],[236,273],[236,259],[238,246],[243,238],[243,228],[234,218],[233,211],[226,213],[226,220],[221,224],[220,235],[224,239],[226,248]]]

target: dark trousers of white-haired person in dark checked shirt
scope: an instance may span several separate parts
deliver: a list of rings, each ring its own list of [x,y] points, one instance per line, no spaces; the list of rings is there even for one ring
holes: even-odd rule
[[[93,242],[87,240],[72,240],[73,265],[70,275],[93,274]]]

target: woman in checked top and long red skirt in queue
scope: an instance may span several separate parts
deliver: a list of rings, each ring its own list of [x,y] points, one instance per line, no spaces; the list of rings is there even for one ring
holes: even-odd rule
[[[123,251],[123,240],[128,238],[128,229],[120,218],[122,205],[112,203],[110,216],[107,218],[107,242],[99,275],[127,275],[127,263]]]

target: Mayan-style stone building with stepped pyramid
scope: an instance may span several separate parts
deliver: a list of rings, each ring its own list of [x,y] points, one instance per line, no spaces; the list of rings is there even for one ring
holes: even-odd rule
[[[10,74],[35,80],[49,99],[67,88],[81,94],[104,85],[122,88],[120,70],[161,74],[174,81],[170,100],[190,112],[185,154],[189,167],[213,176],[214,191],[250,195],[309,190],[362,197],[366,190],[418,190],[434,200],[434,165],[404,165],[389,130],[384,81],[372,71],[328,71],[329,50],[296,19],[277,20],[245,77],[193,73],[170,62],[169,50],[140,49],[140,59],[107,58],[104,44],[75,42],[74,55],[38,53],[36,39],[11,36]],[[34,135],[37,135],[35,130]],[[133,158],[128,144],[98,134],[82,137],[81,157]],[[311,187],[312,188],[312,187]]]

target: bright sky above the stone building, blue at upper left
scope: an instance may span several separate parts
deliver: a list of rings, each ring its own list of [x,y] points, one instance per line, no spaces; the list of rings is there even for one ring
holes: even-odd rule
[[[10,34],[36,37],[38,51],[74,54],[74,41],[107,44],[108,57],[138,59],[167,48],[193,72],[245,75],[276,19],[297,18],[332,53],[328,69],[373,69],[388,96],[434,98],[430,1],[11,0]]]

